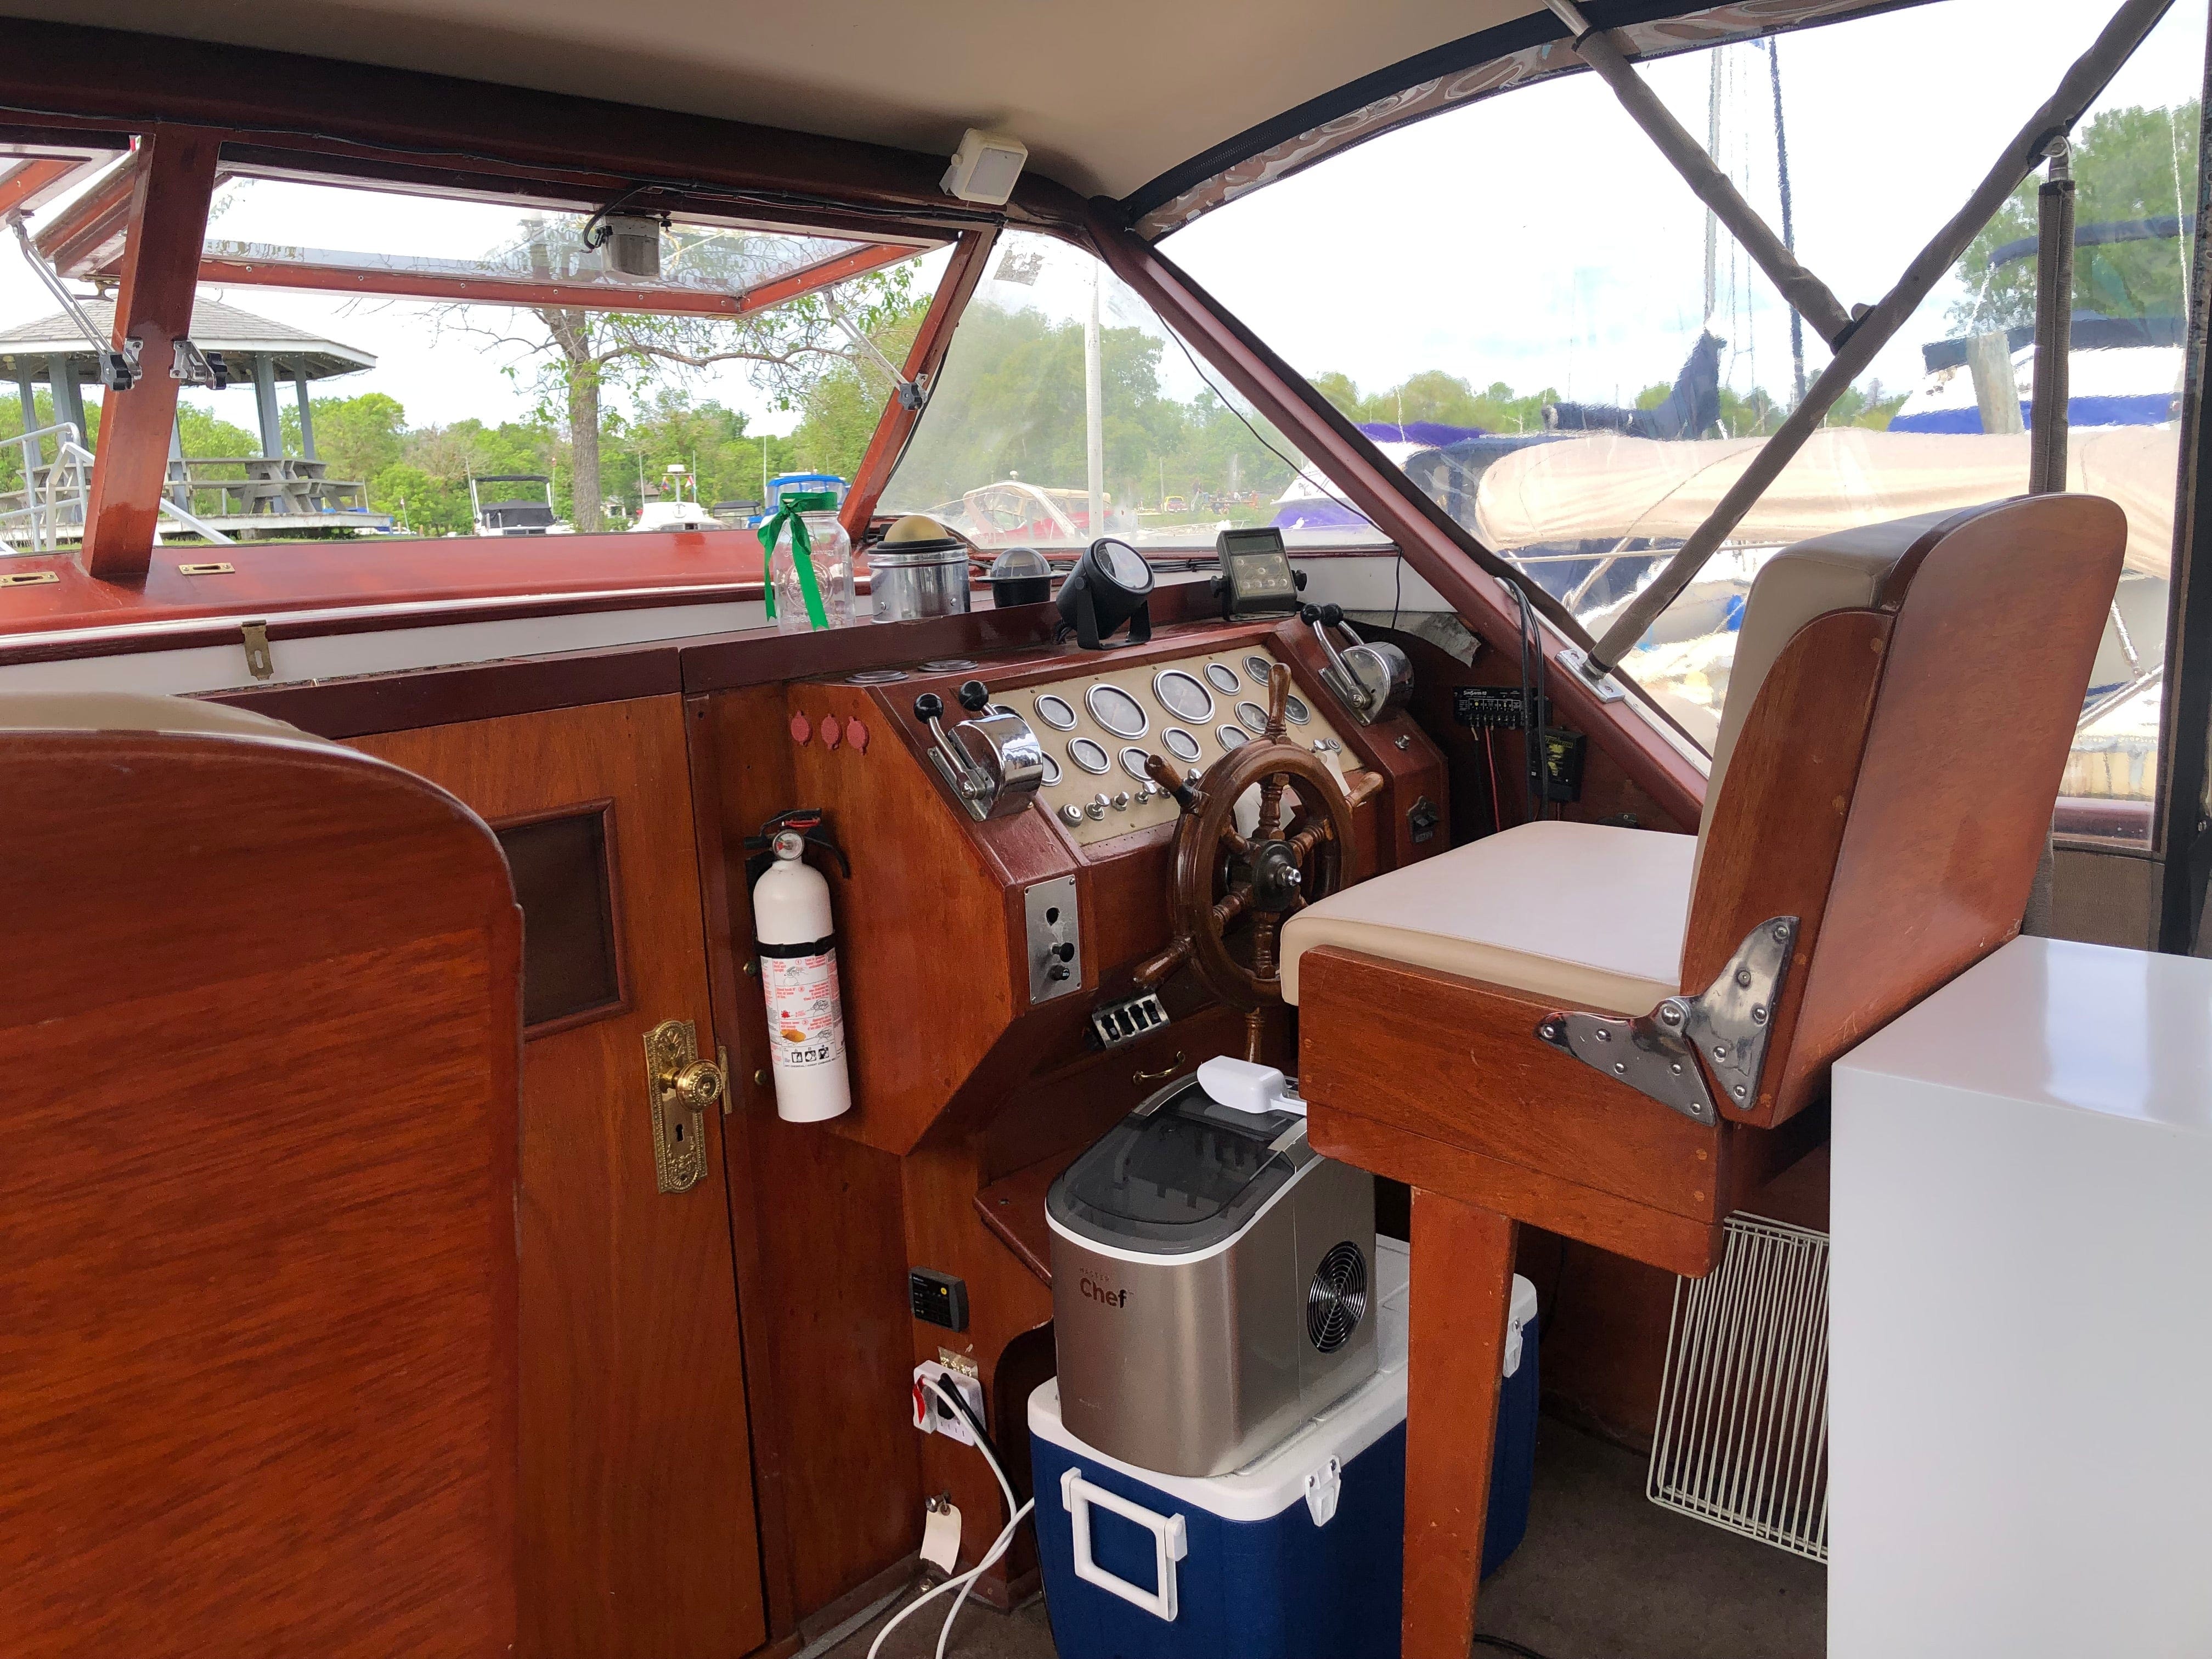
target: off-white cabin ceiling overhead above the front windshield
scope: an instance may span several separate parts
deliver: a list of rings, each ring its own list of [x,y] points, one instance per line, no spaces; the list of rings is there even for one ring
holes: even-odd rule
[[[1031,168],[1126,197],[1310,97],[1537,0],[0,0],[22,18],[465,75]],[[237,88],[248,91],[248,88]]]

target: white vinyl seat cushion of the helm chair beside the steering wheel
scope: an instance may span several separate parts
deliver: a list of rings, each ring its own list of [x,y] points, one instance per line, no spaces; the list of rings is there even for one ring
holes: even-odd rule
[[[1283,1000],[1298,958],[1338,945],[1608,1013],[1681,989],[1697,836],[1524,823],[1307,905],[1283,925]]]

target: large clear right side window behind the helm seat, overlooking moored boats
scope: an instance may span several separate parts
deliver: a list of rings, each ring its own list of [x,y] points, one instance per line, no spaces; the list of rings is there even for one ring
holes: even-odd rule
[[[1845,305],[1871,303],[2108,13],[1944,0],[1637,73]],[[2203,42],[2183,0],[2075,131],[2068,482],[2119,500],[2130,544],[2068,792],[2154,785]],[[2026,489],[2035,184],[1626,655],[1703,745],[1778,546]],[[1829,358],[1586,73],[1338,153],[1164,250],[1593,635]]]

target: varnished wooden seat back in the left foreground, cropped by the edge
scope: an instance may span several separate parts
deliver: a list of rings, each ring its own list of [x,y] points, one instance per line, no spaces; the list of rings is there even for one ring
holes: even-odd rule
[[[520,918],[276,721],[0,697],[0,1648],[507,1655]]]

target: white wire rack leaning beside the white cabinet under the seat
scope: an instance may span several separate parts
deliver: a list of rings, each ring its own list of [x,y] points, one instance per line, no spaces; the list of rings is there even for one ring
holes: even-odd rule
[[[1674,1285],[1646,1495],[1827,1559],[1827,1234],[1730,1217],[1705,1279]]]

